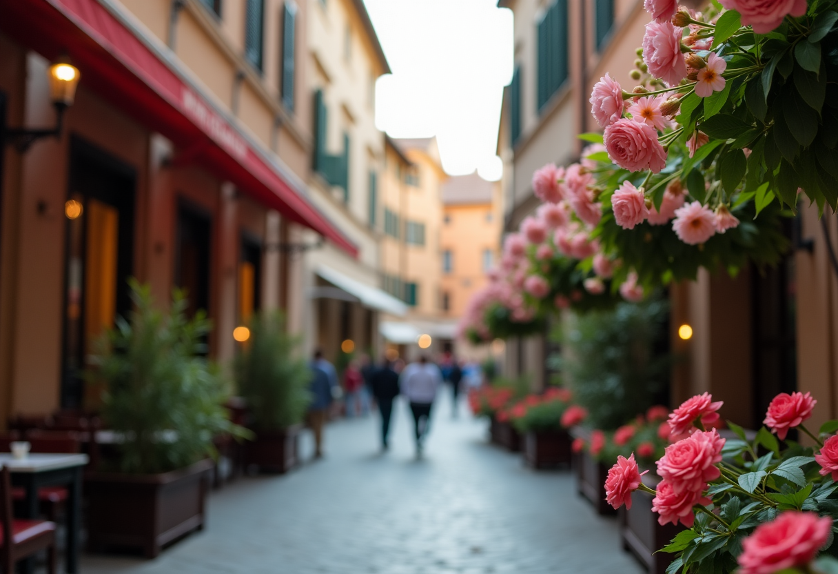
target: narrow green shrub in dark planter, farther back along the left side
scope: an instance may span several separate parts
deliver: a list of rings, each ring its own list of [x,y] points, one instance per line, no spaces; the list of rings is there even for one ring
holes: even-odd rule
[[[251,337],[235,359],[235,378],[255,434],[245,446],[245,464],[287,472],[299,463],[311,371],[299,352],[299,338],[285,331],[282,314],[256,316],[250,330]]]

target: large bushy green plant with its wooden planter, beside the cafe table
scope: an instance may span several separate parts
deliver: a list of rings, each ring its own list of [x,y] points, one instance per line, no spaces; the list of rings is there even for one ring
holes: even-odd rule
[[[186,316],[184,294],[170,310],[131,280],[134,309],[99,342],[96,370],[105,385],[101,415],[116,437],[116,457],[85,476],[88,545],[137,546],[148,557],[204,527],[213,437],[244,436],[223,407],[230,386],[201,355],[209,321]]]

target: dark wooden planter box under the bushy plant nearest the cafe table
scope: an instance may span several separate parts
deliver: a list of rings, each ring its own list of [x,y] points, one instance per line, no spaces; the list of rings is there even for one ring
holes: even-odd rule
[[[88,548],[142,548],[154,558],[163,545],[202,530],[212,468],[205,460],[162,474],[86,474]]]

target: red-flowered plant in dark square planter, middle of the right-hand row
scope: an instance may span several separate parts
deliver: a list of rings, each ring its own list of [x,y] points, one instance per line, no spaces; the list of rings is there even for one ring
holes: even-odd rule
[[[544,394],[530,394],[510,408],[512,425],[523,436],[524,461],[530,467],[570,465],[571,437],[566,429],[584,418],[583,410],[570,399],[570,391],[553,387]]]

